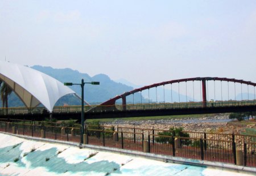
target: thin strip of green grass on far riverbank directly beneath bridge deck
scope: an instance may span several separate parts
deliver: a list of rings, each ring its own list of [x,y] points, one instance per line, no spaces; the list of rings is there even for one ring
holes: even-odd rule
[[[166,116],[154,116],[154,117],[127,117],[127,118],[106,118],[97,119],[97,121],[102,122],[113,122],[113,121],[148,121],[148,120],[168,120],[168,119],[183,119],[183,118],[202,118],[202,117],[213,117],[216,114],[192,114],[192,115],[166,115]],[[93,122],[94,119],[88,119],[86,122]]]

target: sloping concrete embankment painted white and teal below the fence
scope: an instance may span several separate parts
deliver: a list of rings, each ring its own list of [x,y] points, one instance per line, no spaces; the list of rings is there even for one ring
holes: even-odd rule
[[[0,156],[0,175],[250,175],[80,149],[1,133]]]

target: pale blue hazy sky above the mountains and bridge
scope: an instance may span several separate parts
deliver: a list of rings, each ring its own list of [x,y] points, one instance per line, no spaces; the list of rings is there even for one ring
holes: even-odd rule
[[[3,1],[0,59],[147,85],[256,82],[256,1]]]

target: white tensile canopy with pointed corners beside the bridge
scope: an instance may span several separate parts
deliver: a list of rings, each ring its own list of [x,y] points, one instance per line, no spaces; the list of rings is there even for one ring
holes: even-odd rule
[[[50,112],[57,100],[75,93],[60,81],[30,67],[0,61],[0,80],[5,81],[27,108],[42,103]]]

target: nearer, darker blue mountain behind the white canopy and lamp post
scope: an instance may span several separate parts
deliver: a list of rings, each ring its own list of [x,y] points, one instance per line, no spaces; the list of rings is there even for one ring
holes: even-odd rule
[[[39,65],[32,66],[31,68],[34,68],[35,70],[52,76],[53,78],[59,80],[62,83],[81,83],[82,78],[84,78],[85,82],[100,81],[100,85],[85,84],[84,86],[84,98],[90,104],[100,104],[101,102],[105,102],[110,98],[134,89],[133,87],[130,87],[128,85],[117,83],[111,80],[109,76],[105,74],[98,74],[90,77],[88,74],[81,73],[77,70],[72,70],[71,68],[52,68]],[[73,89],[73,91],[75,91],[77,95],[81,96],[81,87],[79,85],[73,85],[69,88]],[[133,102],[133,97],[127,97],[126,101],[127,104]],[[142,101],[145,101],[143,97]],[[141,102],[140,93],[136,93],[134,95],[134,102]],[[117,101],[117,103],[121,103],[121,100]],[[1,100],[0,104],[2,105]],[[60,98],[60,100],[57,101],[55,104],[55,106],[63,105],[81,105],[81,100],[73,95],[67,95]],[[24,106],[22,101],[19,100],[15,93],[12,93],[9,96],[9,107],[20,106]]]

